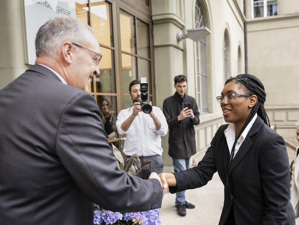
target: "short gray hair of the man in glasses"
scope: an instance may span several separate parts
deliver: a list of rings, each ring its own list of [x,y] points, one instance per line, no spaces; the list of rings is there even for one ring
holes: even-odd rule
[[[93,29],[83,21],[71,17],[57,17],[46,22],[36,34],[36,56],[54,57],[65,41],[80,42],[84,39],[84,33]]]

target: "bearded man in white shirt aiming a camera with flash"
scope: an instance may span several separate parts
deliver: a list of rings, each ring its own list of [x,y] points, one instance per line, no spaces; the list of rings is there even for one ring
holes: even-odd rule
[[[166,118],[159,107],[152,106],[150,113],[142,110],[140,81],[133,80],[129,86],[133,101],[131,107],[123,109],[117,115],[116,128],[119,134],[126,134],[123,152],[126,159],[137,154],[140,163],[152,161],[137,176],[148,179],[151,172],[163,172],[161,136],[168,132]],[[141,103],[141,104],[140,104]],[[152,103],[149,102],[151,105]]]

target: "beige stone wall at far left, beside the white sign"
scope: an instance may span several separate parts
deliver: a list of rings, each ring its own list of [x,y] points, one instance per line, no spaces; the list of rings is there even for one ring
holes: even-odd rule
[[[26,35],[23,1],[0,1],[0,89],[30,66],[26,61]]]

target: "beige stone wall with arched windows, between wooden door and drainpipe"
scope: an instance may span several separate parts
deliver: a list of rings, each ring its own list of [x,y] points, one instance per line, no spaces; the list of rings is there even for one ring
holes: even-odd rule
[[[193,164],[201,159],[210,146],[217,128],[224,123],[221,108],[216,102],[224,86],[223,42],[224,32],[228,33],[229,76],[237,75],[238,50],[241,50],[240,71],[244,72],[244,21],[243,1],[200,1],[205,26],[212,34],[206,37],[208,102],[209,113],[200,116],[195,127],[197,154]],[[191,39],[177,41],[178,31],[186,32],[195,23],[195,0],[159,1],[152,0],[154,23],[154,58],[157,105],[162,107],[165,98],[174,94],[173,78],[184,74],[188,78],[187,94],[197,98],[196,43]],[[159,96],[159,97],[158,97]],[[164,165],[172,165],[168,156],[168,135],[162,138]]]

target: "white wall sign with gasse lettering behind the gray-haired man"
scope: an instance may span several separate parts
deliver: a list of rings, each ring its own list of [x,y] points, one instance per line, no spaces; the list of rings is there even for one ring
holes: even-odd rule
[[[36,60],[35,38],[38,29],[55,17],[76,17],[75,0],[24,0],[28,64]]]

